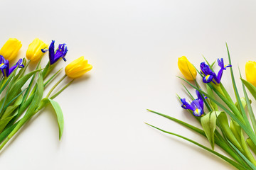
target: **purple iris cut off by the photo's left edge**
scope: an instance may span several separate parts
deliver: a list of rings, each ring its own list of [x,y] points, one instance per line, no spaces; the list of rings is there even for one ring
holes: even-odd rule
[[[24,65],[22,64],[23,60],[20,59],[18,62],[11,68],[9,68],[9,61],[5,60],[3,56],[0,55],[0,69],[3,72],[4,77],[9,77],[9,75],[14,72],[14,69],[23,68]]]

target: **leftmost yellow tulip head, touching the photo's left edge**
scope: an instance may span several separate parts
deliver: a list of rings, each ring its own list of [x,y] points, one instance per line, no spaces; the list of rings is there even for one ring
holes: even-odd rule
[[[0,55],[6,60],[13,60],[18,55],[18,50],[21,49],[21,41],[16,38],[9,38],[3,47],[1,47]]]

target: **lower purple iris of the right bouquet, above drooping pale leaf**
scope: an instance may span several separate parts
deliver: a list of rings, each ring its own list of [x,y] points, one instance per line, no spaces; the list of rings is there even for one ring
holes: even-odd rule
[[[185,98],[181,98],[181,103],[182,103],[181,107],[184,109],[189,109],[193,111],[193,115],[196,115],[199,117],[203,115],[203,98],[201,97],[201,94],[199,93],[199,91],[196,91],[196,96],[198,98],[196,98],[196,100],[193,100],[191,104],[186,102]]]

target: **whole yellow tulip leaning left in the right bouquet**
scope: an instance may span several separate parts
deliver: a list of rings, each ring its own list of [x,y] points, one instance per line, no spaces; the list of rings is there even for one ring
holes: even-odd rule
[[[178,58],[178,69],[181,70],[181,73],[186,79],[196,79],[196,68],[193,67],[193,64],[191,64],[185,56]]]

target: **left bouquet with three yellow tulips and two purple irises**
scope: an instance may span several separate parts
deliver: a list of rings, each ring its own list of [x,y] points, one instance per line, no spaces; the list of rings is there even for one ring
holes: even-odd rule
[[[62,70],[59,69],[56,72],[54,68],[61,58],[66,61],[65,55],[68,48],[65,44],[60,44],[55,50],[55,41],[52,41],[48,47],[45,42],[36,38],[28,46],[27,60],[26,58],[19,59],[14,66],[10,67],[10,62],[14,62],[21,46],[21,41],[10,38],[0,50],[0,69],[2,72],[0,78],[0,150],[33,115],[36,115],[47,104],[53,106],[55,111],[60,139],[63,134],[63,112],[59,104],[53,99],[70,86],[74,79],[92,69],[92,65],[88,64],[84,57],[74,60],[65,67],[65,75],[45,95],[45,89],[50,86],[53,79],[57,78]],[[46,52],[48,52],[49,61],[42,68],[41,60]],[[37,64],[36,69],[26,73],[31,62]],[[71,78],[70,82],[53,93],[56,86],[67,76]]]

